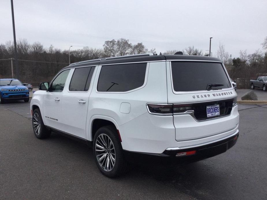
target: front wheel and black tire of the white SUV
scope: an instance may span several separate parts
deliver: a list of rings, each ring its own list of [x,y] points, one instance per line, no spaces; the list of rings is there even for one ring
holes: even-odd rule
[[[38,123],[38,124],[36,124]],[[46,128],[42,120],[39,108],[36,108],[32,114],[33,133],[38,139],[44,139],[51,135],[51,131]]]

